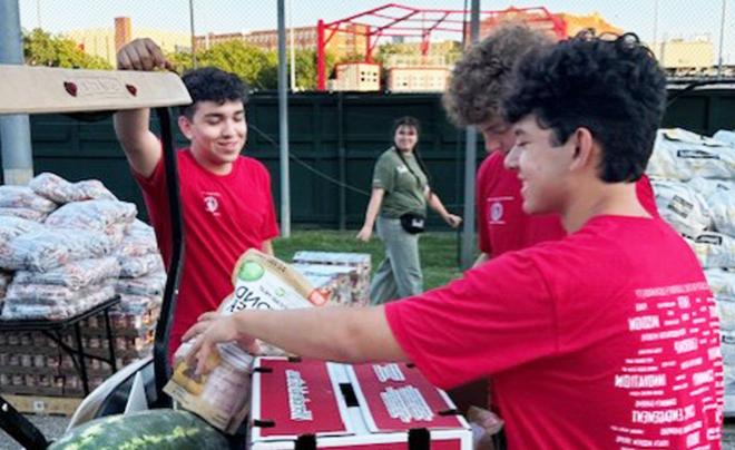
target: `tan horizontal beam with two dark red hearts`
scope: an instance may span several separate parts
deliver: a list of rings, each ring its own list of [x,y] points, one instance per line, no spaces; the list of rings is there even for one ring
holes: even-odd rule
[[[0,65],[0,115],[107,111],[192,102],[171,72]]]

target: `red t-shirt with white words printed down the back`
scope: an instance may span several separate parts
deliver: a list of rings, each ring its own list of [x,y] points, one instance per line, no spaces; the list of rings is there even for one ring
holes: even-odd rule
[[[492,376],[511,449],[719,448],[715,303],[664,221],[595,217],[385,315],[437,385]]]

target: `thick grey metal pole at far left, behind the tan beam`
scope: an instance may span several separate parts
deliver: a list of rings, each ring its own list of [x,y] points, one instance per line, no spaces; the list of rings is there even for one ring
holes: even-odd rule
[[[0,1],[0,63],[22,65],[22,42],[18,1]],[[33,177],[28,115],[0,117],[0,146],[4,184],[27,184]]]

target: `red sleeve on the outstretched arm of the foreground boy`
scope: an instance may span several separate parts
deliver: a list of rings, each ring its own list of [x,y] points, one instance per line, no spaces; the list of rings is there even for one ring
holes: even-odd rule
[[[385,305],[394,338],[431,382],[452,388],[557,351],[555,302],[523,253]]]

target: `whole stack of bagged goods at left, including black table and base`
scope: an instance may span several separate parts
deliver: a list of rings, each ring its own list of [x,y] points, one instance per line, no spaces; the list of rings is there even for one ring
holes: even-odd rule
[[[119,297],[109,311],[117,368],[151,353],[166,283],[153,228],[98,180],[43,173],[0,186],[0,392],[84,397],[69,352],[42,332],[3,331],[8,321],[65,321]],[[86,354],[109,358],[102,314],[80,323]],[[57,339],[76,348],[74,329]],[[86,358],[90,389],[112,374]]]

